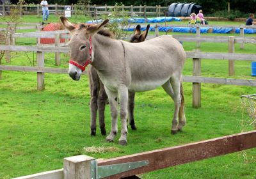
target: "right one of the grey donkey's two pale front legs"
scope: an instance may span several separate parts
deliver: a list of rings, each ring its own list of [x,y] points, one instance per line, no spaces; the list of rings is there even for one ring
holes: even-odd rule
[[[127,105],[128,105],[128,89],[126,86],[122,85],[118,89],[120,95],[120,118],[122,122],[121,137],[119,139],[119,144],[127,144]]]

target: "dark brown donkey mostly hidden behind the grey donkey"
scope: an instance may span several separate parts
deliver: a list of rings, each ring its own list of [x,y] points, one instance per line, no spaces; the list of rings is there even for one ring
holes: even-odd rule
[[[150,25],[148,24],[147,29],[141,34],[141,27],[140,25],[136,26],[134,35],[132,35],[129,42],[138,43],[143,42],[147,38],[148,29]],[[113,35],[105,33],[104,31],[99,31],[98,34],[105,35],[109,37],[113,37]],[[108,96],[104,89],[104,84],[99,78],[97,74],[97,70],[90,65],[88,67],[88,76],[90,81],[90,94],[91,94],[91,101],[90,101],[90,111],[91,111],[91,136],[96,135],[96,118],[97,118],[97,110],[99,111],[99,125],[100,125],[100,132],[103,136],[106,135],[106,128],[105,128],[105,105]],[[134,123],[134,97],[135,92],[129,92],[129,105],[128,105],[128,119],[129,124],[131,125],[132,130],[136,130],[136,125]]]

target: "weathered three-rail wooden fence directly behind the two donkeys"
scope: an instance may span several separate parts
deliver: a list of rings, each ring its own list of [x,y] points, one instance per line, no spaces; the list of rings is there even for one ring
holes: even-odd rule
[[[199,29],[199,27],[197,28]],[[200,30],[197,30],[200,32]],[[37,56],[37,66],[10,66],[10,65],[0,65],[1,70],[13,70],[22,72],[37,72],[38,90],[44,90],[44,73],[57,73],[57,74],[67,74],[66,68],[47,68],[44,67],[44,52],[55,52],[56,53],[56,65],[60,65],[60,52],[67,53],[68,47],[61,47],[63,44],[59,43],[60,38],[68,39],[70,35],[67,34],[68,31],[47,31],[47,32],[35,32],[35,33],[15,33],[9,38],[56,38],[55,46],[19,46],[11,45],[11,40],[8,40],[8,45],[0,45],[0,50],[6,52],[6,60],[10,61],[10,51],[33,51],[36,52]],[[157,28],[156,28],[157,36]],[[202,59],[223,59],[228,60],[228,74],[234,75],[234,60],[248,60],[256,61],[256,54],[236,54],[234,53],[235,43],[255,43],[255,38],[246,38],[243,36],[200,36],[200,34],[194,36],[184,36],[184,35],[173,35],[179,41],[185,42],[225,42],[228,43],[227,53],[216,53],[216,52],[200,52],[198,50],[193,52],[186,52],[187,58],[193,59],[193,76],[184,76],[183,81],[193,82],[193,107],[201,106],[201,83],[214,83],[214,84],[230,84],[230,85],[241,85],[241,86],[256,86],[256,80],[253,79],[233,79],[233,78],[217,78],[217,77],[202,77],[201,76],[201,61]],[[154,38],[154,36],[148,36],[148,38]],[[14,40],[15,42],[15,40]],[[196,46],[198,49],[200,45]]]

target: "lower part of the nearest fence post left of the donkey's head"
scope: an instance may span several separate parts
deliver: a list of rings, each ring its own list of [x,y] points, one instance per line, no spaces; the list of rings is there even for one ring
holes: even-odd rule
[[[44,67],[44,52],[36,52],[37,66]],[[37,72],[37,89],[44,90],[44,73]]]

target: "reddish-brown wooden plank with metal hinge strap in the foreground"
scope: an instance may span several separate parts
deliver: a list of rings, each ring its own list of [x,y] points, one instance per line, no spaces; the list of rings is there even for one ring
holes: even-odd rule
[[[249,148],[256,147],[256,130],[250,132],[242,132],[230,136],[218,137],[196,143],[184,144],[181,146],[173,146],[149,152],[136,153],[126,155],[124,157],[116,157],[98,161],[98,166],[106,166],[110,164],[120,164],[125,162],[136,162],[148,160],[149,164],[145,167],[126,171],[108,178],[122,178],[140,173],[147,173],[157,169],[186,164],[202,159],[209,159],[228,153],[239,152]]]

